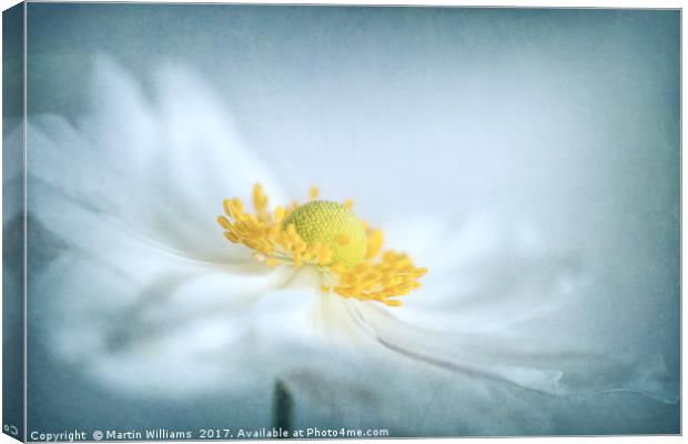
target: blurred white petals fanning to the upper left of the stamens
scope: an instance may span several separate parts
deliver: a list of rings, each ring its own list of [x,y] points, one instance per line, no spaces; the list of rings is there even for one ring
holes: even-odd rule
[[[161,82],[149,103],[127,72],[99,59],[92,110],[75,127],[54,115],[30,119],[31,180],[195,259],[226,261],[240,250],[215,222],[222,200],[246,198],[263,182],[280,202],[280,190],[194,74],[168,70]],[[29,205],[47,222],[43,210]]]

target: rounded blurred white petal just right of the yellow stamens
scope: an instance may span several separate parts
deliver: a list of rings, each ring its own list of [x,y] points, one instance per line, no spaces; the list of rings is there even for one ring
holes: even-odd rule
[[[547,250],[525,229],[474,219],[449,230],[433,218],[395,226],[391,242],[409,245],[416,263],[428,268],[423,287],[396,311],[412,324],[468,334],[539,329],[538,320],[577,302],[589,285],[575,250]],[[409,242],[412,233],[423,242]]]

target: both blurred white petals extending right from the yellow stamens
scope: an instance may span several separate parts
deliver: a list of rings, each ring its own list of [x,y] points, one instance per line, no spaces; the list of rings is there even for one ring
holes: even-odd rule
[[[570,317],[570,307],[583,303],[591,285],[574,249],[552,250],[527,226],[505,229],[480,219],[452,231],[432,218],[407,218],[393,225],[391,238],[404,246],[419,239],[409,248],[414,259],[419,252],[427,261],[423,265],[429,272],[399,310],[356,310],[384,346],[451,371],[559,396],[633,392],[677,401],[677,385],[660,355],[610,354],[560,331],[556,321]],[[431,242],[435,254],[423,246]],[[594,314],[576,315],[585,323]]]

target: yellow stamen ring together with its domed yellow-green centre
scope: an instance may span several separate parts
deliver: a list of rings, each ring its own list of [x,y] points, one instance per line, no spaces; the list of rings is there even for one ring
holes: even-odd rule
[[[311,201],[304,205],[293,202],[271,211],[263,188],[255,184],[255,213],[245,213],[237,198],[225,199],[217,223],[230,242],[252,249],[267,266],[317,266],[327,283],[321,286],[324,293],[398,306],[396,297],[421,286],[416,280],[427,269],[416,268],[403,253],[388,250],[381,255],[383,232],[368,229],[351,211],[352,200],[318,201],[316,186],[308,194]]]

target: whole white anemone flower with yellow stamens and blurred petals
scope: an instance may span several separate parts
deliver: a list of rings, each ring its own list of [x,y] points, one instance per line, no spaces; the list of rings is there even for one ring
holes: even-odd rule
[[[398,252],[382,252],[348,196],[293,203],[189,70],[161,69],[154,99],[105,58],[92,78],[87,112],[28,124],[29,315],[70,374],[149,400],[220,394],[243,426],[272,424],[280,386],[295,425],[393,436],[552,433],[564,400],[676,401],[661,360],[543,334],[585,284],[575,261],[421,215],[393,220]],[[547,279],[464,297],[480,285],[466,263],[492,258],[493,280],[500,254]]]

